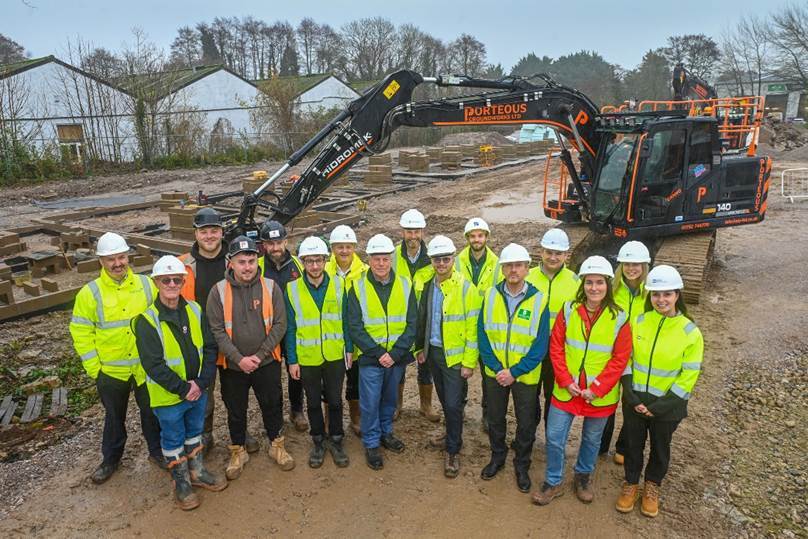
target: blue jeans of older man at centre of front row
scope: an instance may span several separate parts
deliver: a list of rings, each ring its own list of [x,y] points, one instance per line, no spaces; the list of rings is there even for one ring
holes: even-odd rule
[[[379,447],[382,436],[393,433],[393,414],[398,400],[398,383],[405,365],[389,369],[361,366],[359,369],[360,427],[365,447]]]

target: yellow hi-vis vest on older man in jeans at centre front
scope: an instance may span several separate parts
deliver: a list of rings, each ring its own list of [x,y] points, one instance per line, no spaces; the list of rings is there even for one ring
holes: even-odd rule
[[[371,338],[387,350],[393,349],[407,329],[407,306],[412,283],[402,275],[393,274],[393,287],[387,300],[387,312],[369,280],[368,272],[354,283],[354,293],[362,310],[362,323]],[[361,352],[361,350],[360,350]]]

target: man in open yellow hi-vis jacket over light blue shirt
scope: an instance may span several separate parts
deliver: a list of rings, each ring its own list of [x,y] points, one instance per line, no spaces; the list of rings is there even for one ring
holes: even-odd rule
[[[457,477],[463,445],[463,397],[466,380],[477,364],[477,317],[481,298],[477,289],[454,269],[455,246],[446,236],[435,236],[427,254],[435,276],[420,295],[416,349],[419,364],[429,367],[446,422],[443,474]]]

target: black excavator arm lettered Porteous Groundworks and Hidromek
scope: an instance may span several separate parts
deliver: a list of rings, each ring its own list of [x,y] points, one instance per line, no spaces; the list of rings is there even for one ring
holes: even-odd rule
[[[413,102],[413,91],[422,83],[487,91]],[[257,230],[255,210],[259,206],[266,208],[272,219],[281,223],[291,221],[363,156],[384,151],[390,135],[401,126],[545,124],[555,128],[578,150],[582,173],[591,179],[601,136],[595,129],[597,111],[597,106],[585,95],[555,83],[546,75],[539,76],[536,84],[514,77],[500,80],[465,76],[432,78],[409,70],[397,71],[352,101],[263,185],[246,195],[230,232]],[[315,151],[315,157],[285,196],[276,197],[274,202],[265,199],[265,193],[278,178]],[[584,193],[569,152],[565,152],[564,161],[571,168],[575,187]]]

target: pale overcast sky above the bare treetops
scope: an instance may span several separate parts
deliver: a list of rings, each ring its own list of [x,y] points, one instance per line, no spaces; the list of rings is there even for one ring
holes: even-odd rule
[[[635,67],[645,51],[670,35],[722,31],[742,15],[765,15],[785,2],[760,0],[406,0],[356,2],[298,0],[0,0],[0,33],[34,56],[61,55],[68,39],[79,36],[117,50],[131,28],[143,28],[168,49],[178,27],[214,17],[252,15],[296,26],[312,17],[335,29],[353,19],[381,16],[396,25],[413,23],[448,42],[466,32],[485,43],[488,61],[509,70],[529,52],[553,58],[581,49],[607,61]],[[366,8],[362,4],[367,5]],[[351,5],[350,8],[346,6]],[[706,8],[705,6],[710,6]]]

